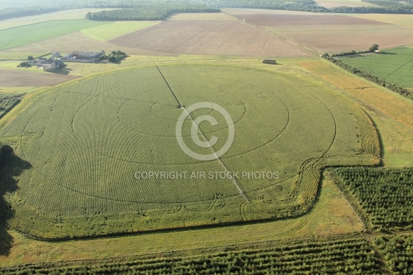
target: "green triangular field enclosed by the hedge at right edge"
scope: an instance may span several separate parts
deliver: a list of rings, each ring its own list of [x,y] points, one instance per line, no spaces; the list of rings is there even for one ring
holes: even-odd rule
[[[389,83],[413,89],[413,47],[395,47],[380,54],[343,56],[341,61]]]

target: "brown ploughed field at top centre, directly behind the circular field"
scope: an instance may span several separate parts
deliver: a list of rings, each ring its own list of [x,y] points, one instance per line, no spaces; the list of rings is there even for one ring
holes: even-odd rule
[[[109,43],[179,54],[310,56],[277,36],[239,21],[163,21]]]

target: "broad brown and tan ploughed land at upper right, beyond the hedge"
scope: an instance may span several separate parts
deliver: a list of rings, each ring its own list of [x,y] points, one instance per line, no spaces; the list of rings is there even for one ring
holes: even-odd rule
[[[245,19],[247,23],[304,45],[319,54],[368,50],[372,44],[379,44],[381,48],[413,44],[413,28],[407,27],[406,24],[396,25],[392,21],[374,20],[376,17],[357,17],[357,20],[354,20],[350,15],[311,14],[286,10],[223,11],[241,21]],[[403,22],[405,21],[407,19],[403,17]]]

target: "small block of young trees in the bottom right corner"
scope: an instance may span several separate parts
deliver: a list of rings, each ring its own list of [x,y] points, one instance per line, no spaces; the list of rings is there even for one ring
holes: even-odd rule
[[[379,236],[374,241],[396,275],[413,274],[413,235]]]

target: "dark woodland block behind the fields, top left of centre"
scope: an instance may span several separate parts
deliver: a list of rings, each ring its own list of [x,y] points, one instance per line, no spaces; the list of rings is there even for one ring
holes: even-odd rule
[[[172,14],[180,12],[220,12],[220,10],[187,2],[158,3],[157,5],[153,5],[153,3],[142,3],[134,8],[128,9],[88,12],[86,19],[102,21],[162,20]]]

